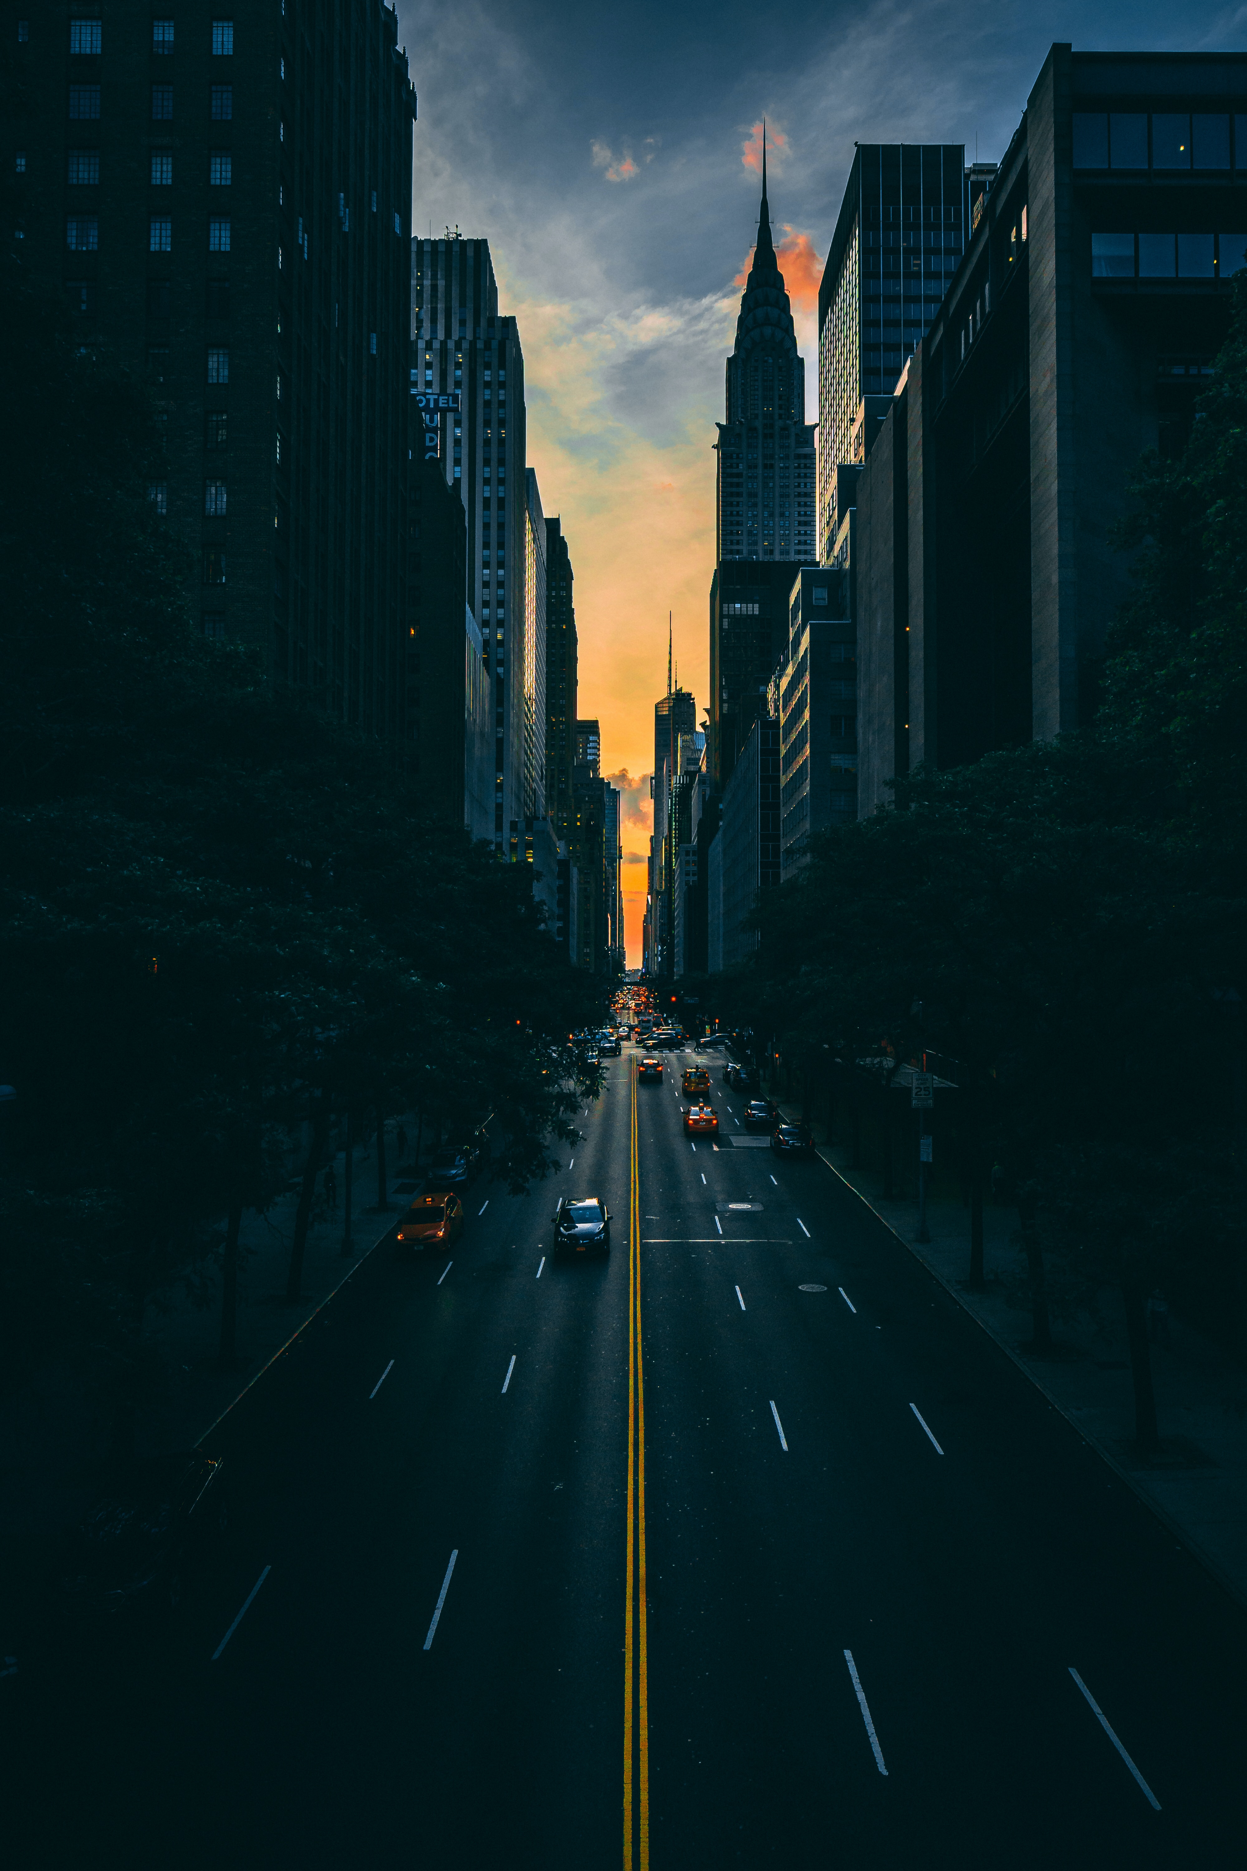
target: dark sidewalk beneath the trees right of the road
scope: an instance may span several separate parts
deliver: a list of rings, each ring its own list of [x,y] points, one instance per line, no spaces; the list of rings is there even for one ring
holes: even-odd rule
[[[785,1117],[798,1115],[795,1106],[780,1110]],[[821,1141],[817,1149],[1122,1480],[1247,1603],[1247,1371],[1170,1313],[1168,1342],[1152,1345],[1161,1452],[1150,1463],[1140,1461],[1133,1450],[1135,1392],[1118,1293],[1103,1295],[1099,1319],[1088,1312],[1054,1317],[1058,1355],[1036,1358],[1023,1349],[1030,1338],[1030,1300],[1021,1248],[1011,1239],[1015,1209],[983,1205],[985,1291],[970,1293],[968,1207],[931,1199],[931,1240],[918,1244],[916,1201],[886,1199],[881,1175],[849,1168],[847,1147]]]

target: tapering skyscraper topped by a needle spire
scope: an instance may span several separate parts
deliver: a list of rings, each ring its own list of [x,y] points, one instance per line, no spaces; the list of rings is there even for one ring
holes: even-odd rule
[[[718,425],[718,559],[815,556],[815,440],[806,365],[770,238],[767,155],[757,247],[727,359],[727,419]]]

